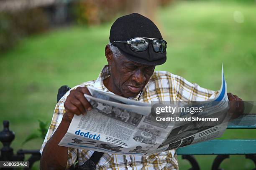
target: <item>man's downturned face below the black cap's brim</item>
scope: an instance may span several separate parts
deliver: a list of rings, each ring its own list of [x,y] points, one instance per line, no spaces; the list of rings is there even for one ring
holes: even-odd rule
[[[111,67],[111,78],[113,86],[118,95],[124,97],[135,97],[145,87],[154,72],[154,65],[143,65],[128,60],[123,55],[109,62]]]

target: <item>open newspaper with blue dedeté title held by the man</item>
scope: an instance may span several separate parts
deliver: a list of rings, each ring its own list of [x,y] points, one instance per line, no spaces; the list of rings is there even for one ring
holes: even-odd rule
[[[223,68],[218,95],[204,102],[145,103],[87,88],[91,95],[84,96],[92,110],[86,115],[74,115],[59,143],[61,146],[148,156],[218,138],[227,128],[230,117]],[[159,114],[159,108],[161,111],[172,108],[173,112],[166,109]],[[195,112],[195,108],[201,110]]]

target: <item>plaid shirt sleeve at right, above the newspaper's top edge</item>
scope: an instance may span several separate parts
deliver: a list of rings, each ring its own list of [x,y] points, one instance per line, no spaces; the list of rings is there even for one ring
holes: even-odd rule
[[[218,91],[200,87],[198,84],[191,83],[178,75],[175,75],[175,90],[177,101],[205,101],[214,98],[218,94]]]

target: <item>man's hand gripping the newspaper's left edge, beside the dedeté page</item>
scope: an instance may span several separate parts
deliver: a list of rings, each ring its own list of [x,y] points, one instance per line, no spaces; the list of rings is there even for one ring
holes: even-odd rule
[[[64,103],[66,109],[66,113],[63,115],[64,120],[71,122],[74,114],[85,115],[86,111],[92,110],[92,107],[84,97],[84,94],[91,95],[87,87],[77,87],[70,91],[69,96]]]

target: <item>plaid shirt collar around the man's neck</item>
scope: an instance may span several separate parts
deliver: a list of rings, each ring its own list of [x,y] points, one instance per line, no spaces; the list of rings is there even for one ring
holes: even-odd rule
[[[102,68],[102,70],[101,70],[101,72],[100,72],[100,75],[99,75],[98,78],[97,78],[98,84],[95,85],[95,87],[100,88],[101,90],[110,92],[110,91],[108,90],[108,88],[107,88],[107,87],[104,85],[104,83],[103,83],[103,80],[106,79],[106,78],[108,78],[108,77],[110,76],[110,72],[111,72],[110,66],[109,66],[109,65],[105,65],[105,66]],[[110,93],[113,93],[113,92],[110,92]],[[142,94],[142,91],[141,91],[136,97],[129,97],[129,99],[131,99],[131,100],[138,100],[138,98],[141,96],[141,94]]]

